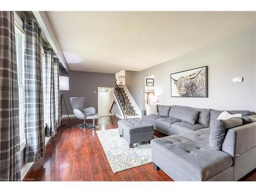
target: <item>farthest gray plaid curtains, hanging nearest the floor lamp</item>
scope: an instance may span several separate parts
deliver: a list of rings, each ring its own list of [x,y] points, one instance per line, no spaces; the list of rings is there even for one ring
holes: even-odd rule
[[[46,136],[52,137],[58,126],[58,61],[53,57],[53,50],[45,49],[44,63],[44,108],[46,121]]]

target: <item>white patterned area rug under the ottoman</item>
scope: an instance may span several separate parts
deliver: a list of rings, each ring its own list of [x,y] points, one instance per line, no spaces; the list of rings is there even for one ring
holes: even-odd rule
[[[118,129],[96,131],[106,157],[114,173],[151,163],[151,147],[148,142],[134,144],[119,136]]]

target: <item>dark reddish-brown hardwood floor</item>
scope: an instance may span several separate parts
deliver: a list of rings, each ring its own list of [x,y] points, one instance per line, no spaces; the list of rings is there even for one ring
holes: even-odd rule
[[[98,130],[117,128],[116,116],[101,117]],[[63,120],[67,122],[67,120]],[[173,181],[153,163],[114,174],[95,130],[75,127],[81,120],[71,119],[72,127],[60,130],[50,138],[45,157],[33,164],[25,180],[29,181]],[[157,137],[163,137],[155,132]],[[256,181],[256,170],[241,179]]]

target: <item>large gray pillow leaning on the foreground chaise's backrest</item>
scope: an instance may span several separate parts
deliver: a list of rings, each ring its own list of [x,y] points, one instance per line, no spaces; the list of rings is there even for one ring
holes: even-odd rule
[[[233,117],[226,120],[214,120],[210,125],[210,147],[215,150],[221,150],[222,143],[225,138],[227,129],[240,126],[243,124],[243,120],[240,117]]]

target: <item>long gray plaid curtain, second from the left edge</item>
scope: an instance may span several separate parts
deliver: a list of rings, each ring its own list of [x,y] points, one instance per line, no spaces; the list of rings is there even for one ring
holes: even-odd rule
[[[24,20],[25,32],[25,163],[45,155],[44,105],[41,63],[41,30],[36,22]]]

